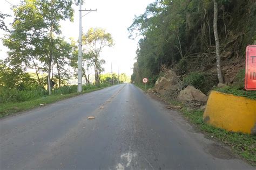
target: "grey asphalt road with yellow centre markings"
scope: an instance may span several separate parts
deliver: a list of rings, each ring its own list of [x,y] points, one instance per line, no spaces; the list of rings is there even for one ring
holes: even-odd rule
[[[132,84],[0,124],[1,169],[254,169]]]

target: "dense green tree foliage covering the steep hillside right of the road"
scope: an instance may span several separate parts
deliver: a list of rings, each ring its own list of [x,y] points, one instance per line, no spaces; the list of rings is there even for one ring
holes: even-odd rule
[[[205,44],[205,39],[198,38],[198,30],[210,6],[208,1],[156,1],[147,6],[143,15],[135,17],[128,28],[129,37],[141,39],[131,80],[140,83],[143,77],[154,79],[161,65],[170,67],[177,62],[178,74],[186,73],[185,55]]]

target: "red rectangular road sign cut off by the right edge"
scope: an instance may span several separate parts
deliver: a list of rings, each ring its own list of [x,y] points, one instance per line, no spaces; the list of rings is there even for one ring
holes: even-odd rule
[[[245,89],[256,90],[256,45],[246,47]]]

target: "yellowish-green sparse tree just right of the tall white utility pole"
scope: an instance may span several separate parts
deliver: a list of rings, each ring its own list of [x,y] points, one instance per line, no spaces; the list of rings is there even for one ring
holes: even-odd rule
[[[102,65],[105,63],[103,59],[100,59],[100,52],[105,46],[113,46],[111,34],[106,33],[103,29],[90,28],[86,34],[82,35],[82,43],[86,45],[84,51],[90,55],[89,59],[95,70],[95,81],[96,84],[99,84],[100,73],[103,72]]]

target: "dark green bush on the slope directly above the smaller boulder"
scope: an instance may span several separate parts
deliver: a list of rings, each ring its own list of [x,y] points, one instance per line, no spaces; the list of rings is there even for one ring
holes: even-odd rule
[[[207,94],[217,84],[217,77],[205,73],[191,72],[183,78],[184,86],[193,86]]]

